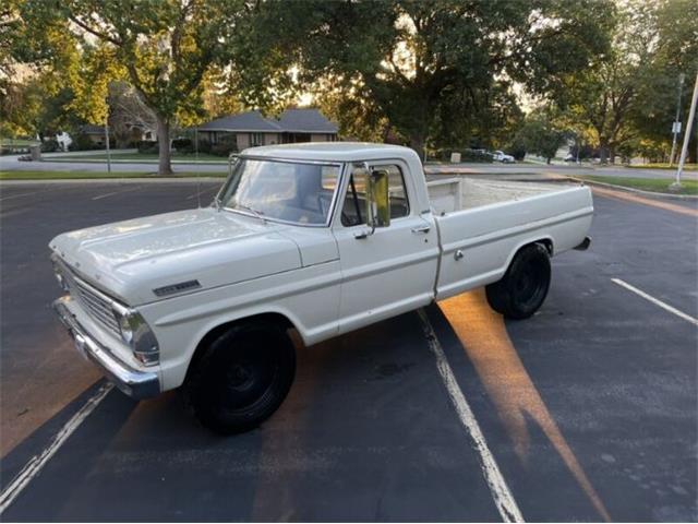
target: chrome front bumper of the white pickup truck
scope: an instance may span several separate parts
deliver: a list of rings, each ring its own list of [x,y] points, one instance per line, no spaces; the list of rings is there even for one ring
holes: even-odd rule
[[[71,312],[70,308],[73,303],[72,298],[67,295],[53,302],[53,310],[73,337],[77,350],[96,364],[109,381],[132,398],[141,400],[158,395],[160,393],[158,374],[154,371],[133,369],[117,358],[108,347],[99,344]]]

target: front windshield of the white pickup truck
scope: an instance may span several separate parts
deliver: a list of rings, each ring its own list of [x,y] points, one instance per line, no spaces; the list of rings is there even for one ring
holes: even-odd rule
[[[325,225],[339,165],[238,158],[219,193],[232,211],[296,224]]]

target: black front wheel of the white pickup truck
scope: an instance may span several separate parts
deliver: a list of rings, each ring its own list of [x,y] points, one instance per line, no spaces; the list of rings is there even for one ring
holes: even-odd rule
[[[276,412],[294,376],[296,348],[285,331],[239,325],[204,348],[184,382],[184,400],[205,427],[239,433]]]

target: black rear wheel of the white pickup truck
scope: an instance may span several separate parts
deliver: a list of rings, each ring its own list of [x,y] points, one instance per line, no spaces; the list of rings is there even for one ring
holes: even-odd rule
[[[500,282],[485,287],[488,302],[507,319],[528,319],[543,305],[550,288],[550,255],[540,243],[521,248]]]

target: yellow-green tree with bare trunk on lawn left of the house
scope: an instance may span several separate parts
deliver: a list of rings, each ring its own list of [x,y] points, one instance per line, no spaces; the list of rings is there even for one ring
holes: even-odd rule
[[[103,62],[123,68],[156,117],[159,175],[172,172],[173,123],[201,111],[204,75],[230,51],[225,43],[252,12],[243,0],[65,0],[53,9],[26,0],[22,9],[35,31],[63,21],[81,47],[101,50]]]

